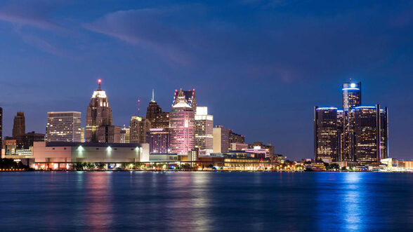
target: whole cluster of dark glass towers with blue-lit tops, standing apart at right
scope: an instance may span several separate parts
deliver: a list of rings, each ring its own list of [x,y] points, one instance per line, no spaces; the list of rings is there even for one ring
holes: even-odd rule
[[[380,162],[388,158],[388,109],[362,107],[361,83],[343,83],[343,109],[315,107],[316,161]]]

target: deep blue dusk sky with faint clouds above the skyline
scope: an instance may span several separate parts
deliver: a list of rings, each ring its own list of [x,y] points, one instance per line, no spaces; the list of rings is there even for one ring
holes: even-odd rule
[[[47,111],[85,116],[101,78],[116,125],[152,88],[164,111],[195,88],[214,124],[313,157],[313,107],[341,107],[351,78],[389,107],[390,155],[411,159],[412,26],[411,1],[1,1],[4,135],[16,111],[38,132]]]

